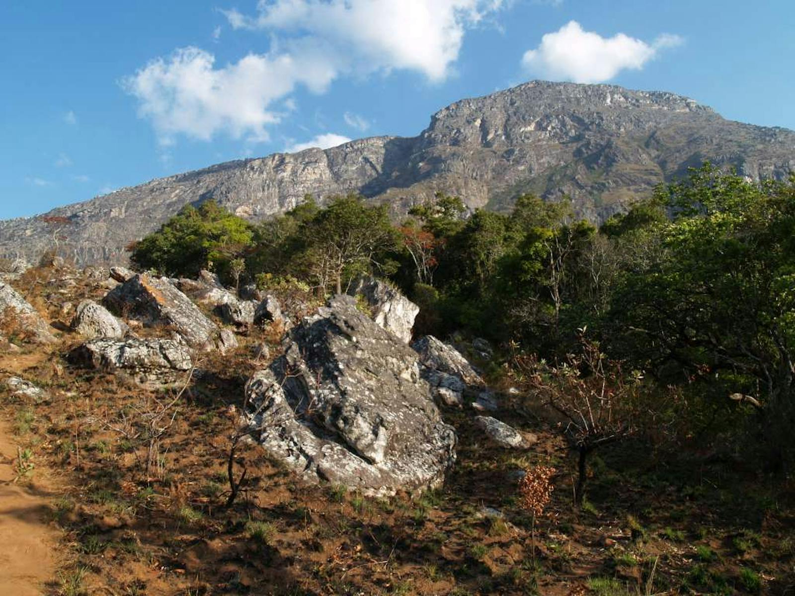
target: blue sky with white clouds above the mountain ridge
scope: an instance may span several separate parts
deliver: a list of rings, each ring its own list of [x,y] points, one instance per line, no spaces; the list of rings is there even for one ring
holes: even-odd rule
[[[795,129],[792,0],[0,3],[0,219],[242,157],[414,135],[530,79]]]

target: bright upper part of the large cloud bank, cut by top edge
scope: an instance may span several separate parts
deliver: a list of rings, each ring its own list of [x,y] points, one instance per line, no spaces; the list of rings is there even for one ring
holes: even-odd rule
[[[273,0],[249,17],[224,11],[233,29],[293,33],[342,56],[340,69],[405,68],[445,79],[466,29],[494,14],[503,0]]]

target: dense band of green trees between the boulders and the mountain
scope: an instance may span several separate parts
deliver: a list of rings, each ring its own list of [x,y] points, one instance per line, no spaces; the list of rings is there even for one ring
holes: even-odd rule
[[[257,226],[208,202],[138,242],[133,260],[171,275],[214,266],[259,284],[297,280],[320,295],[374,273],[420,304],[418,333],[464,331],[549,362],[580,350],[587,330],[589,345],[635,371],[622,374],[644,371],[649,395],[676,389],[662,413],[683,435],[752,436],[782,469],[795,424],[793,232],[795,181],[707,164],[601,229],[533,195],[508,215],[467,216],[437,194],[399,226],[355,195],[324,207],[307,197]]]

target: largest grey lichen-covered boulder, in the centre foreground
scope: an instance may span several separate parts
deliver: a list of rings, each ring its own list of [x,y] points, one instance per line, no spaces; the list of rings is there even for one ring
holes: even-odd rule
[[[335,296],[285,339],[246,393],[271,455],[304,478],[366,494],[437,486],[455,461],[417,354]]]

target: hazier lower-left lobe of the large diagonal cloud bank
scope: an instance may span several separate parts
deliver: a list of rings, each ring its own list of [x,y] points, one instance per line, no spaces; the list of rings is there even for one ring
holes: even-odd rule
[[[182,48],[168,60],[157,58],[122,87],[138,98],[138,115],[149,119],[161,145],[174,137],[209,141],[225,133],[236,139],[266,141],[266,126],[281,114],[271,104],[303,84],[321,92],[336,72],[322,53],[249,54],[235,64],[215,68],[215,56],[199,48]]]

